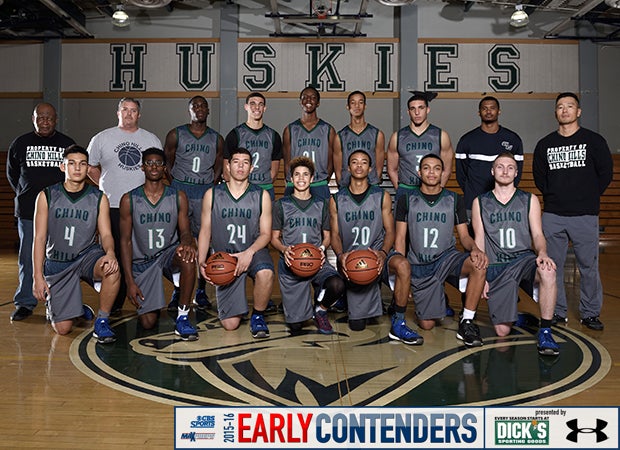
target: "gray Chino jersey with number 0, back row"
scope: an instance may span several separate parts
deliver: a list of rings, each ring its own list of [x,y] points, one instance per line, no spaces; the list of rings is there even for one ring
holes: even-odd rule
[[[200,138],[196,138],[188,125],[181,125],[176,130],[177,151],[170,174],[183,183],[213,183],[219,133],[207,128]]]

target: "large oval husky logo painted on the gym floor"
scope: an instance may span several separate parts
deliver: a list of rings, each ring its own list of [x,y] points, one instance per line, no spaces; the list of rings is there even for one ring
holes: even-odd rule
[[[567,327],[554,327],[561,356],[539,356],[536,328],[508,339],[482,328],[485,344],[466,349],[450,318],[423,332],[423,346],[390,341],[389,318],[352,332],[346,315],[335,333],[312,322],[291,336],[281,314],[267,316],[271,337],[253,339],[247,322],[224,331],[214,312],[199,313],[199,340],[174,335],[162,314],[144,331],[132,316],[113,324],[115,344],[97,345],[85,332],[72,346],[74,364],[98,381],[176,405],[443,406],[549,402],[583,391],[610,368],[607,351]],[[480,317],[480,323],[489,323]]]

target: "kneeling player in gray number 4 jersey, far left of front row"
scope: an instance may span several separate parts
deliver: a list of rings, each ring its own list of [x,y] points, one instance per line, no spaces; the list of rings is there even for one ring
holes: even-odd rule
[[[100,282],[93,337],[109,344],[116,341],[109,316],[120,274],[108,199],[86,184],[88,152],[84,148],[67,148],[60,169],[65,173],[65,181],[45,188],[36,200],[33,294],[40,302],[46,301],[52,327],[64,335],[71,332],[73,319],[84,317],[85,310],[90,310],[82,304],[80,279],[91,286]],[[97,233],[101,245],[96,243]],[[92,311],[89,315],[92,317]]]

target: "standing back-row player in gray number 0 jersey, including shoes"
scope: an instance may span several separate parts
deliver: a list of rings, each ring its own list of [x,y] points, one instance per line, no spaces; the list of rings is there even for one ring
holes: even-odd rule
[[[189,101],[190,123],[173,128],[166,135],[164,151],[171,186],[185,192],[189,202],[189,220],[192,235],[198,237],[202,197],[222,176],[222,154],[224,140],[213,128],[207,126],[209,103],[201,95]],[[176,311],[179,305],[179,288],[174,288],[169,311]],[[205,292],[205,280],[198,277],[198,288],[194,300],[198,309],[211,308]]]

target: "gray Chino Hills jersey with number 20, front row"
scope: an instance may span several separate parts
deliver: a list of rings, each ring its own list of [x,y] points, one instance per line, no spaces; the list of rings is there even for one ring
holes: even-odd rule
[[[338,230],[345,252],[383,246],[383,189],[371,185],[366,196],[357,203],[349,188],[342,188],[335,194],[338,209]]]

